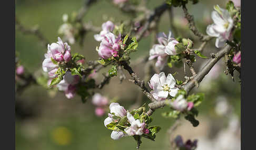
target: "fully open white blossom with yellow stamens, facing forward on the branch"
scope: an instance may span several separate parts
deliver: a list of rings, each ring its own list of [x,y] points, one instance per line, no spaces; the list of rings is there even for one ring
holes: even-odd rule
[[[164,72],[154,74],[149,82],[149,86],[153,91],[151,92],[156,100],[164,100],[170,94],[172,97],[178,93],[179,88],[175,87],[176,81],[172,74],[168,74],[167,78]]]

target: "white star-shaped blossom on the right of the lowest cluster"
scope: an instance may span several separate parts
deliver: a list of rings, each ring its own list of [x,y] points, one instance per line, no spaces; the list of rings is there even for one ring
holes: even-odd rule
[[[139,119],[135,120],[132,114],[129,112],[127,112],[127,119],[129,120],[131,126],[126,127],[124,131],[130,136],[142,135],[145,128],[145,123],[141,123]]]

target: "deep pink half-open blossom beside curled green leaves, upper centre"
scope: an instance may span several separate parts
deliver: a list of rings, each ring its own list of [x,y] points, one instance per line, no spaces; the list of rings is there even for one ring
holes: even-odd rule
[[[99,49],[96,49],[103,59],[110,58],[112,56],[117,57],[117,53],[120,50],[119,43],[121,42],[121,34],[116,38],[114,34],[107,33],[101,41]]]

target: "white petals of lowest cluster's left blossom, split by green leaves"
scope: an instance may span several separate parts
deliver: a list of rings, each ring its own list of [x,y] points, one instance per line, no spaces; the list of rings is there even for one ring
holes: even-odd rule
[[[126,110],[124,109],[123,106],[120,106],[119,103],[111,103],[110,104],[110,113],[115,113],[116,116],[120,116],[120,117],[124,117],[126,115]],[[105,120],[104,120],[104,125],[108,125],[110,124],[111,122],[115,121],[113,119],[113,115],[109,113],[109,117],[107,117]],[[106,126],[107,127],[107,126]],[[115,131],[112,131],[111,133],[111,138],[113,140],[118,140],[119,138],[123,137],[123,136],[126,136],[126,134],[124,134],[122,131],[118,131],[118,130],[115,130]]]

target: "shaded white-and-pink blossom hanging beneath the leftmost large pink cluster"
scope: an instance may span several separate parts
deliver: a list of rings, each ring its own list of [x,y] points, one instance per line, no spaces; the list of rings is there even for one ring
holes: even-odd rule
[[[63,76],[63,80],[57,84],[57,88],[60,91],[65,92],[65,96],[71,99],[75,95],[76,84],[79,82],[80,77],[78,75],[72,76],[70,71],[67,71]]]

